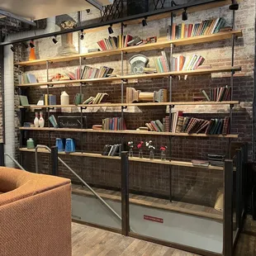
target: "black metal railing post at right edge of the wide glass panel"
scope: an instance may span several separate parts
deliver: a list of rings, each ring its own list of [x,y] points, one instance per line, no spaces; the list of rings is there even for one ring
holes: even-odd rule
[[[223,207],[223,255],[233,255],[233,161],[225,160]]]

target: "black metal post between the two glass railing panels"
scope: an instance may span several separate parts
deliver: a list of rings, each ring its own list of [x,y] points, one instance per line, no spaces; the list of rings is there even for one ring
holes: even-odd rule
[[[121,234],[128,235],[130,231],[129,216],[129,159],[128,152],[121,152]]]

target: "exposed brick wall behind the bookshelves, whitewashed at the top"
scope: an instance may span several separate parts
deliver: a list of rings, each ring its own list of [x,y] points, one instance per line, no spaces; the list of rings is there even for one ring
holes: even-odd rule
[[[206,18],[225,17],[228,23],[231,22],[231,16],[228,7],[220,7],[207,10],[205,12],[195,12],[188,16],[187,22],[202,21]],[[254,1],[246,0],[240,3],[239,11],[236,12],[237,29],[243,30],[243,38],[235,41],[235,65],[242,67],[242,72],[235,73],[234,78],[234,100],[239,100],[241,103],[235,107],[232,121],[232,134],[239,134],[239,139],[235,142],[249,143],[249,160],[254,159],[253,155],[253,93],[254,93]],[[181,22],[181,17],[176,17],[174,22]],[[139,35],[141,37],[158,36],[159,29],[166,27],[170,21],[164,19],[161,21],[148,22],[148,26],[141,25],[127,26],[125,34]],[[115,29],[115,34],[120,31]],[[107,37],[107,31],[88,33],[85,40],[81,41],[82,49],[97,47],[96,42],[104,37]],[[74,45],[78,46],[78,36],[75,34]],[[40,59],[49,56],[55,56],[57,53],[57,45],[53,45],[50,39],[37,40],[36,47],[40,54]],[[223,67],[230,65],[231,57],[231,40],[221,40],[213,43],[205,43],[201,45],[179,46],[174,49],[174,55],[192,55],[197,53],[206,58],[206,64],[211,64],[212,67]],[[149,57],[150,66],[154,66],[154,56],[160,55],[160,50],[142,52]],[[26,59],[27,53],[24,52]],[[125,73],[129,73],[128,60],[132,54],[125,55]],[[92,67],[100,67],[108,65],[115,68],[115,73],[121,73],[121,56],[111,56],[104,58],[86,59],[83,64],[88,64]],[[72,61],[63,64],[50,64],[50,77],[55,73],[64,73],[64,71],[74,70],[78,67],[78,61]],[[26,68],[25,71],[35,73],[39,81],[45,81],[46,71],[45,66],[35,66]],[[187,80],[179,78],[173,79],[173,98],[172,101],[192,101],[192,97],[201,96],[201,89],[209,91],[210,88],[225,86],[230,84],[230,73],[216,73],[212,75],[188,77]],[[129,83],[126,86],[140,89],[141,91],[149,92],[159,88],[168,89],[168,79],[159,78],[154,80],[143,80],[138,83]],[[66,91],[72,99],[75,93],[79,92],[77,86],[56,86],[50,88],[50,93],[57,95],[57,104],[59,103],[60,92]],[[29,101],[36,103],[41,94],[46,92],[46,88],[30,88],[27,92]],[[88,84],[83,87],[85,97],[96,95],[97,92],[109,93],[109,102],[121,102],[121,86],[116,83],[99,83]],[[176,107],[178,110],[179,108]],[[185,115],[198,116],[202,118],[222,117],[229,112],[228,107],[183,107]],[[55,113],[55,116],[66,113]],[[46,115],[46,113],[45,113]],[[69,115],[79,115],[71,113]],[[88,127],[93,124],[101,124],[102,118],[109,116],[121,116],[121,112],[109,112],[99,110],[88,110],[84,114],[88,117]],[[126,126],[128,129],[135,129],[139,126],[144,126],[145,122],[161,119],[166,115],[164,107],[159,108],[132,108],[125,113]],[[27,113],[26,121],[33,121],[34,113]],[[46,121],[47,126],[47,121]],[[45,145],[55,145],[57,137],[73,137],[77,142],[77,149],[82,149],[87,152],[101,153],[103,145],[119,143],[121,135],[107,134],[80,134],[80,133],[59,133],[59,132],[26,132],[26,138],[33,137],[37,143]],[[124,135],[124,141],[133,140],[135,144],[140,140],[153,140],[156,152],[159,156],[159,147],[168,145],[167,136],[148,136],[148,135]],[[227,154],[228,152],[227,139],[211,139],[211,138],[187,138],[173,137],[171,140],[171,150],[174,159],[206,159],[206,154],[219,153]],[[169,149],[168,149],[169,150]],[[138,154],[135,150],[135,154]],[[147,155],[148,152],[145,152]],[[70,165],[86,182],[100,187],[121,187],[121,164],[116,160],[106,159],[88,159],[82,157],[62,156],[64,161]],[[35,162],[33,154],[23,154],[24,167],[30,171],[35,170]],[[72,178],[73,181],[78,181],[68,171],[59,166],[61,175]],[[40,154],[40,172],[49,172],[49,155]],[[170,186],[172,189],[173,198],[175,200],[197,202],[206,206],[213,206],[218,187],[222,186],[222,172],[209,171],[197,168],[173,167],[171,172],[171,185],[169,182],[168,167],[157,164],[130,164],[130,189],[137,192],[154,193],[159,197],[168,197]]]

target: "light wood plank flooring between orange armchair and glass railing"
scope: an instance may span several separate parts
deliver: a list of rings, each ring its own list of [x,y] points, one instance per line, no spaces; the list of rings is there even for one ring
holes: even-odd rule
[[[73,256],[197,256],[178,249],[72,224]]]

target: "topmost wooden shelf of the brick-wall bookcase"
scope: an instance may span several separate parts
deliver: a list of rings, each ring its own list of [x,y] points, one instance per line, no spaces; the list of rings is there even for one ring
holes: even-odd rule
[[[49,61],[50,63],[58,63],[58,62],[65,62],[65,61],[71,61],[75,59],[79,59],[79,57],[82,58],[98,58],[98,57],[106,57],[111,55],[121,55],[121,52],[127,52],[127,53],[133,53],[133,52],[140,52],[144,50],[158,50],[163,49],[166,47],[169,47],[170,44],[173,45],[194,45],[194,44],[201,44],[206,42],[212,42],[216,40],[225,40],[232,37],[232,35],[235,35],[237,37],[243,36],[242,31],[226,31],[226,32],[220,32],[217,34],[212,35],[206,35],[206,36],[193,36],[185,39],[178,39],[178,40],[166,40],[166,41],[159,41],[156,43],[148,44],[148,45],[136,45],[136,46],[130,46],[125,47],[121,49],[116,50],[106,50],[106,51],[97,51],[82,55],[70,55],[65,57],[56,57],[56,58],[49,58],[49,59],[36,59],[31,61],[22,61],[17,63],[17,65],[20,66],[33,66],[33,65],[42,65]]]

